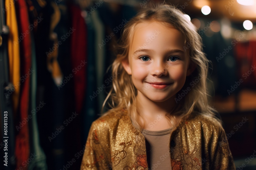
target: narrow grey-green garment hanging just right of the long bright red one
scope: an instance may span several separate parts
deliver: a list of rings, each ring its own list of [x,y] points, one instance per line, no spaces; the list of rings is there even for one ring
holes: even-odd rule
[[[35,38],[34,38],[34,32],[37,31],[37,26],[34,23],[38,20],[38,10],[41,9],[41,7],[36,3],[35,5],[37,8],[35,8],[32,1],[27,0],[28,4],[28,14],[30,23],[33,25],[33,27],[30,27],[30,34],[31,34],[31,60],[32,60],[32,68],[34,70],[34,73],[31,74],[31,81],[30,81],[30,107],[29,107],[29,115],[31,115],[31,119],[28,122],[29,123],[29,139],[30,139],[30,152],[35,153],[37,155],[34,159],[31,160],[31,162],[28,164],[28,170],[47,170],[47,164],[46,164],[46,155],[44,151],[42,150],[42,147],[40,145],[39,140],[39,130],[38,130],[38,122],[37,122],[37,99],[36,99],[36,90],[37,90],[37,67],[36,67],[36,47],[35,47]],[[43,2],[43,1],[38,1]],[[35,2],[34,2],[35,3]],[[41,6],[44,7],[46,3],[40,3]],[[40,18],[40,17],[39,17]],[[41,21],[40,21],[41,22]],[[38,23],[39,24],[39,23]],[[40,105],[41,106],[41,105]]]

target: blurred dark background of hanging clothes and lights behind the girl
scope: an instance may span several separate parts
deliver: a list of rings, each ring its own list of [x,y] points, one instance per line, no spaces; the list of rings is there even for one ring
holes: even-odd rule
[[[112,83],[114,44],[150,2],[160,1],[1,0],[1,160],[8,152],[1,169],[80,169],[90,125]],[[256,1],[165,2],[202,37],[212,62],[211,105],[236,168],[256,169]]]

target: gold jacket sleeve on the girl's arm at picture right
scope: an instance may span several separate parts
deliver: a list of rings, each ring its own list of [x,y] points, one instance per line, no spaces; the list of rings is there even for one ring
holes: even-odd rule
[[[223,127],[220,127],[220,134],[217,142],[215,143],[215,155],[213,166],[210,169],[227,169],[227,170],[235,170],[235,164],[233,160],[233,156],[229,149],[228,139]]]

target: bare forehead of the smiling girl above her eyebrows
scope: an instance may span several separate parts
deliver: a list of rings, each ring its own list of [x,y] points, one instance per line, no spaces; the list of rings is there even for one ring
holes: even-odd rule
[[[164,25],[157,21],[142,22],[135,25],[129,53],[132,54],[138,49],[186,51],[184,45],[185,37],[172,25]]]

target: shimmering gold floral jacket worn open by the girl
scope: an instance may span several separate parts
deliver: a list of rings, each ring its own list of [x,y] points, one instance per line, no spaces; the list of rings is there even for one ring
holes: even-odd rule
[[[216,119],[191,115],[170,134],[170,166],[173,170],[236,169],[226,139]],[[148,169],[145,138],[127,112],[102,116],[89,131],[81,170],[111,166],[113,170]]]

